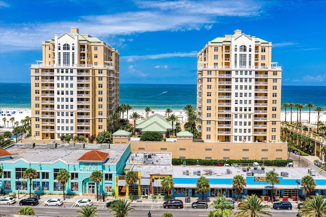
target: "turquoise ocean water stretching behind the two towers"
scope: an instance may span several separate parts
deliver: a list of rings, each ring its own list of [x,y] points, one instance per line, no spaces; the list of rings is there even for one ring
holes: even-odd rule
[[[326,86],[282,86],[282,104],[285,102],[312,102],[326,108]],[[152,110],[182,110],[189,103],[196,107],[196,85],[120,84],[122,103],[134,110],[147,106]],[[31,84],[0,83],[0,108],[31,108]]]

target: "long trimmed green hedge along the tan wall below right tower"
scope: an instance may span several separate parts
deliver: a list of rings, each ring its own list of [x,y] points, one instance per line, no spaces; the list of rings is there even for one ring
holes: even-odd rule
[[[293,162],[293,160],[218,160],[218,159],[180,159],[173,158],[172,165],[182,165],[183,161],[186,162],[186,166],[216,166],[218,164],[238,164],[240,165],[252,165],[253,162],[258,162],[260,165],[265,165],[269,167],[285,167],[288,162]],[[198,161],[198,162],[197,162]]]

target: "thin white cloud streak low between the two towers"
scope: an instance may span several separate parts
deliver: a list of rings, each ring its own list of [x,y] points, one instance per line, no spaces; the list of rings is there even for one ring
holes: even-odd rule
[[[144,56],[124,56],[121,57],[121,60],[126,59],[127,62],[135,62],[135,61],[139,61],[139,60],[156,60],[156,59],[165,59],[165,58],[175,58],[175,57],[197,57],[197,53],[198,51],[192,51],[192,52],[188,52],[188,53],[184,53],[184,52],[175,52],[175,53],[159,53],[159,54],[155,54],[155,55],[144,55]]]

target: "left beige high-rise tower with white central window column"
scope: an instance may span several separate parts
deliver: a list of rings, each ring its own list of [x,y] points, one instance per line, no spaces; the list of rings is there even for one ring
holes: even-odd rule
[[[71,28],[42,42],[31,87],[33,137],[97,135],[119,105],[119,52]]]

